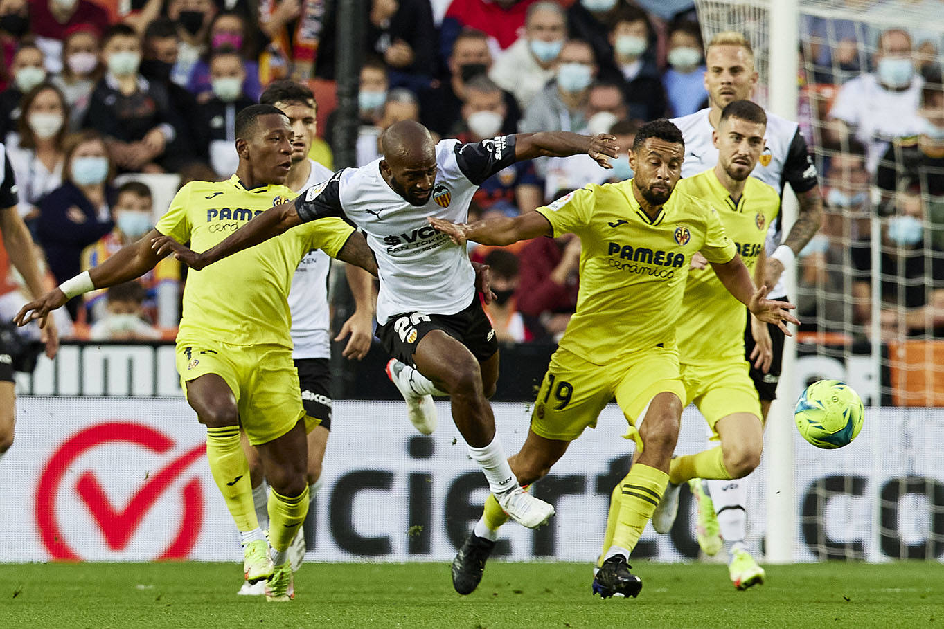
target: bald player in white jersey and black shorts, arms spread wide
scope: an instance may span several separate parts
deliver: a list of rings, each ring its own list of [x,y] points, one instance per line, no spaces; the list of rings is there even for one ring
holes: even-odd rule
[[[475,271],[465,247],[436,232],[427,217],[464,223],[481,182],[522,159],[585,153],[612,168],[609,158],[619,155],[615,137],[546,131],[437,144],[425,126],[404,121],[386,130],[381,146],[384,157],[338,171],[201,254],[166,239],[156,246],[173,248],[178,259],[201,269],[323,217],[342,217],[362,229],[378,261],[377,336],[401,365],[415,367],[410,382],[398,388],[406,384],[401,392],[413,398],[447,394],[469,456],[498,504],[514,521],[540,526],[554,508],[521,488],[495,431],[488,397],[497,381],[497,340],[476,294]]]

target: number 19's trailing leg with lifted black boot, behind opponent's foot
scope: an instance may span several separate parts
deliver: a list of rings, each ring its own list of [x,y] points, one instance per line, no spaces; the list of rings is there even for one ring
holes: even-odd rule
[[[514,476],[522,486],[529,486],[550,472],[551,466],[560,460],[570,441],[546,439],[531,429],[521,450],[508,459]],[[472,533],[452,560],[452,587],[460,594],[470,594],[479,587],[485,562],[495,548],[498,527],[508,521],[508,514],[498,505],[494,495],[485,499],[482,515]]]

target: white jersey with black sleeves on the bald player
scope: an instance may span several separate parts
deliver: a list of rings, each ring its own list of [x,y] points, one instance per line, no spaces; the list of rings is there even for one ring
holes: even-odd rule
[[[472,303],[475,272],[463,246],[427,222],[435,216],[464,223],[481,182],[514,163],[514,136],[436,144],[430,200],[413,206],[380,174],[380,159],[346,168],[295,199],[302,221],[338,216],[361,229],[377,256],[377,322],[401,312],[455,314]]]

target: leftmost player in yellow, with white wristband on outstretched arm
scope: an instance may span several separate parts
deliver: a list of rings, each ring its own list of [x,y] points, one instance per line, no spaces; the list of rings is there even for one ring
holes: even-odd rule
[[[203,251],[295,195],[281,185],[292,154],[292,128],[282,111],[271,105],[244,108],[236,116],[236,138],[239,168],[228,181],[184,186],[143,239],[27,304],[17,323],[44,321],[50,310],[78,294],[154,268],[161,256],[152,240],[168,236]],[[376,273],[366,240],[350,226],[340,220],[311,223],[225,263],[192,271],[177,334],[177,371],[188,403],[207,426],[207,458],[243,538],[246,578],[268,578],[272,601],[293,596],[287,550],[308,510],[307,426],[292,362],[287,295],[299,260],[314,248]],[[257,446],[272,488],[268,543],[253,509],[241,427]]]

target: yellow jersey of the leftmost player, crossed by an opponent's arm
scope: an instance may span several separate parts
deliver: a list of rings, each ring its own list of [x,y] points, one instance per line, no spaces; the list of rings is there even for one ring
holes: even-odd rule
[[[157,230],[203,252],[273,205],[295,197],[285,186],[246,190],[239,177],[194,181],[181,188]],[[298,262],[312,249],[337,256],[354,229],[326,218],[187,274],[177,342],[218,340],[234,345],[274,343],[292,348],[287,297]]]

